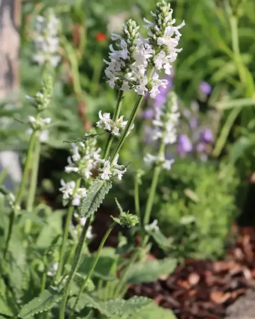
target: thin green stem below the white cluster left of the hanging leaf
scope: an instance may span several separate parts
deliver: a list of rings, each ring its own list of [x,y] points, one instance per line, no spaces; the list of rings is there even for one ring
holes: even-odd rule
[[[76,181],[75,188],[73,190],[73,194],[75,194],[77,192],[78,188],[80,187],[80,184],[81,184],[81,178],[79,178]],[[70,228],[70,222],[72,219],[73,210],[74,210],[74,206],[72,204],[70,204],[70,206],[68,208],[68,212],[67,212],[63,240],[62,240],[61,249],[60,249],[59,266],[58,266],[58,272],[56,275],[56,280],[58,280],[60,278],[60,276],[62,275],[62,271],[63,271],[66,243],[67,243],[67,238],[68,238],[68,234],[69,234],[69,228]]]

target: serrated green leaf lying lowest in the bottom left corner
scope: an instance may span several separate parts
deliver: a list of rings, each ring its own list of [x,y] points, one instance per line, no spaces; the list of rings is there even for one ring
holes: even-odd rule
[[[63,291],[58,291],[53,288],[43,290],[43,292],[36,298],[32,299],[27,305],[24,305],[18,316],[20,318],[27,318],[36,313],[40,313],[52,308],[63,297]]]

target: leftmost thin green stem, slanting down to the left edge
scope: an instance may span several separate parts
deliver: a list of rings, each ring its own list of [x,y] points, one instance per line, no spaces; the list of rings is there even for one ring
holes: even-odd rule
[[[24,172],[23,172],[23,175],[22,175],[22,179],[21,179],[21,183],[20,183],[20,186],[19,186],[19,189],[18,189],[18,193],[16,195],[14,208],[12,209],[11,214],[10,214],[10,223],[9,223],[8,235],[7,235],[6,245],[5,245],[4,257],[6,256],[6,253],[8,252],[8,249],[9,249],[9,243],[10,243],[10,240],[11,240],[13,224],[14,224],[14,218],[15,218],[16,213],[19,210],[19,205],[20,205],[20,202],[21,202],[21,199],[22,199],[22,195],[23,195],[25,186],[27,184],[27,179],[28,179],[28,175],[29,175],[29,168],[30,168],[30,162],[31,162],[32,155],[33,155],[35,138],[36,138],[36,131],[34,131],[32,133],[32,135],[31,135],[31,137],[30,137],[27,158],[25,159]]]

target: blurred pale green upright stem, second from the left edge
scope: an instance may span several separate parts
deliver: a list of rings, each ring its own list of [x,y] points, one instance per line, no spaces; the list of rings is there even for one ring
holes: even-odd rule
[[[37,186],[37,178],[38,178],[38,167],[40,162],[40,151],[41,151],[41,143],[39,138],[37,137],[35,141],[34,148],[34,156],[33,156],[33,165],[32,165],[32,174],[31,174],[31,184],[29,188],[28,201],[27,201],[27,212],[32,213],[34,202],[35,202],[35,194],[36,194],[36,186]],[[29,234],[32,227],[32,220],[27,219],[25,223],[25,234]]]

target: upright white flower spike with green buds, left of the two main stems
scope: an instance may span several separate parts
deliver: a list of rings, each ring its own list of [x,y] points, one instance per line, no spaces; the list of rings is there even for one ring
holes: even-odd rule
[[[88,180],[92,176],[92,170],[97,166],[94,156],[100,151],[100,148],[96,148],[96,139],[87,139],[78,145],[72,143],[72,156],[67,158],[66,173],[74,172]]]

